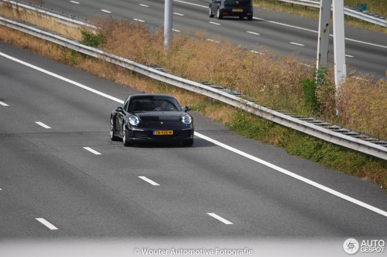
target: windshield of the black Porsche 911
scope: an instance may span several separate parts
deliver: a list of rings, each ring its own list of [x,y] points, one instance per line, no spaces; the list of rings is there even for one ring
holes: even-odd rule
[[[129,103],[129,112],[177,111],[182,108],[174,98],[156,98],[153,96],[133,98]]]

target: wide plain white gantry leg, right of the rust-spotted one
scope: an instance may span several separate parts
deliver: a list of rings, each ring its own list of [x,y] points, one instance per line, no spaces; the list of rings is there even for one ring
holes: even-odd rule
[[[345,81],[347,68],[345,65],[345,36],[344,36],[344,1],[333,0],[333,47],[336,84],[336,115],[339,115],[337,93],[340,84]]]

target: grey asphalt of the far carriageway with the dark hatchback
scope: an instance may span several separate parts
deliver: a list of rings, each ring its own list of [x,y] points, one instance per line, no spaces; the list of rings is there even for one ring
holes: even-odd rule
[[[247,47],[267,46],[279,54],[299,52],[300,57],[315,59],[317,55],[318,20],[296,15],[255,8],[252,22],[238,19],[209,18],[206,7],[208,0],[174,1],[173,27],[187,32],[192,27],[207,30],[212,37],[233,40]],[[79,4],[77,4],[79,3]],[[164,1],[90,1],[77,3],[57,0],[45,0],[45,6],[70,13],[79,17],[111,16],[146,22],[152,29],[164,25]],[[144,6],[145,5],[145,6]],[[108,10],[109,13],[101,10]],[[184,16],[182,16],[184,15]],[[220,25],[215,25],[214,22]],[[259,35],[248,34],[247,31]],[[345,27],[346,55],[348,66],[361,73],[375,73],[375,77],[385,78],[387,70],[386,35],[370,30]],[[330,30],[332,34],[332,29]],[[296,43],[296,44],[292,44]],[[301,45],[301,46],[300,46]],[[330,37],[329,60],[333,63],[333,38]],[[349,70],[349,69],[348,69]]]

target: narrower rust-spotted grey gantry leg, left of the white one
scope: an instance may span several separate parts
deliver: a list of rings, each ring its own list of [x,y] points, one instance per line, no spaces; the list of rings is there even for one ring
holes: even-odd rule
[[[328,68],[329,24],[331,0],[320,1],[319,38],[316,68]]]

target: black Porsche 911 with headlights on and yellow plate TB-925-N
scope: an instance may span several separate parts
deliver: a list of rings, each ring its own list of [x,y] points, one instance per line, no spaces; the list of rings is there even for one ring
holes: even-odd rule
[[[172,95],[139,94],[129,96],[110,116],[110,139],[122,138],[123,145],[139,142],[194,143],[194,119]]]

